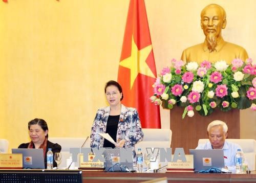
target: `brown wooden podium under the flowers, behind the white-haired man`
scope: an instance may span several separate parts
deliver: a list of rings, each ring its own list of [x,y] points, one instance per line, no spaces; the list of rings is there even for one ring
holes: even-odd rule
[[[203,117],[194,110],[195,116],[187,115],[182,119],[184,108],[175,106],[170,110],[170,129],[172,130],[172,148],[183,147],[186,154],[195,149],[199,139],[208,139],[207,126],[211,121],[221,120],[228,126],[228,138],[240,139],[240,111],[232,109],[223,112],[216,108],[211,115]]]

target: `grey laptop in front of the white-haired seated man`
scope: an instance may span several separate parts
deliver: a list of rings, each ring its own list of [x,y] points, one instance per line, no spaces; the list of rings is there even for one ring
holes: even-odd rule
[[[195,171],[225,167],[223,149],[189,149],[189,153],[194,155]]]

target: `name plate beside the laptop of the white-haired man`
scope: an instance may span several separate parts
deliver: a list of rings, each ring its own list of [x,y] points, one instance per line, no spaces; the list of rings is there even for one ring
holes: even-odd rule
[[[181,160],[178,159],[177,162],[169,162],[168,163],[168,169],[179,169],[179,170],[193,170],[194,169],[194,156],[193,155],[185,155],[186,156],[186,162],[182,162]]]

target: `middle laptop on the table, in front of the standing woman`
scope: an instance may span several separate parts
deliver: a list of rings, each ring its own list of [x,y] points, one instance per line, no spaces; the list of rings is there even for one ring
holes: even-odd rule
[[[105,171],[109,171],[109,172],[135,171],[133,168],[132,153],[131,153],[131,162],[127,162],[127,161],[121,162],[119,148],[114,148],[114,149],[105,148],[103,155],[105,159],[105,163],[104,163]]]

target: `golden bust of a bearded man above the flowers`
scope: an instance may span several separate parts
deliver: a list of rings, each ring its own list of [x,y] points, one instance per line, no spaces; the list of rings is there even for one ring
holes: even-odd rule
[[[248,54],[239,45],[224,41],[221,35],[222,29],[227,24],[225,10],[216,4],[206,6],[201,12],[201,28],[203,29],[205,40],[201,44],[193,45],[185,49],[181,60],[185,62],[196,61],[201,63],[208,60],[212,63],[225,60],[228,64],[234,58],[245,61]]]

